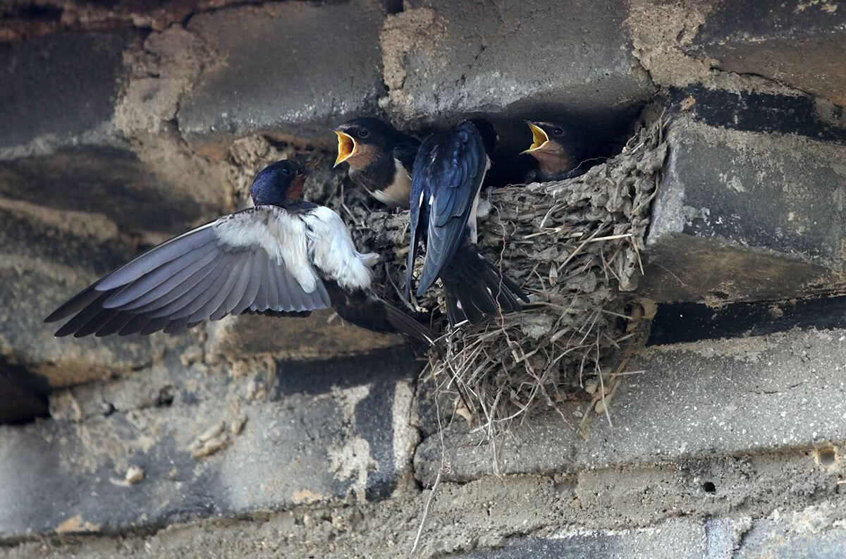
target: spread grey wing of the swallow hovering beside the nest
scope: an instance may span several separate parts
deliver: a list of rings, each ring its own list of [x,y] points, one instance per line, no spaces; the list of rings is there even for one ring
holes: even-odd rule
[[[239,211],[148,250],[46,321],[69,319],[56,336],[82,337],[173,332],[244,312],[325,309],[330,297],[310,260],[323,242],[299,214],[276,206]]]

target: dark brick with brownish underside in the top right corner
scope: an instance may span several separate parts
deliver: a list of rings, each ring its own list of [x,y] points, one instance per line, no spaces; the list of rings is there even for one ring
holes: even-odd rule
[[[715,3],[686,51],[846,105],[846,11],[838,2]],[[839,9],[838,9],[839,8]]]

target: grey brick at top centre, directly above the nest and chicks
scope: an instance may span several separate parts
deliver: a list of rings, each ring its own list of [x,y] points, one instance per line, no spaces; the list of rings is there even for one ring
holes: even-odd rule
[[[383,105],[399,120],[505,112],[611,122],[609,112],[654,91],[630,54],[624,2],[413,0],[405,8],[382,33]]]

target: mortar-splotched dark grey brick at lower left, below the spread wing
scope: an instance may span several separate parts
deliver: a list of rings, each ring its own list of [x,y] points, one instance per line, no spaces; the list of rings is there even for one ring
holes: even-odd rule
[[[288,388],[268,398],[263,375],[199,365],[180,373],[177,360],[151,372],[146,388],[160,396],[149,407],[123,408],[112,394],[118,405],[91,414],[87,400],[105,392],[57,394],[52,414],[63,419],[0,427],[0,539],[389,496],[410,480],[416,443],[409,364],[359,359],[346,365],[355,379],[338,379],[336,364],[311,363],[306,392],[288,367]]]

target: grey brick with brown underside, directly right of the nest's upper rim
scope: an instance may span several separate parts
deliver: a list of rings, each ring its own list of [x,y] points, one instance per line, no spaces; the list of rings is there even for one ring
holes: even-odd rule
[[[792,114],[783,120],[771,112],[767,123],[766,109],[744,120],[744,131],[725,121],[711,126],[716,101],[706,95],[699,107],[697,93],[687,101],[692,112],[669,127],[642,293],[660,302],[724,302],[843,289],[846,145],[799,136]],[[726,96],[742,107],[754,101]],[[740,107],[724,112],[732,110]]]

